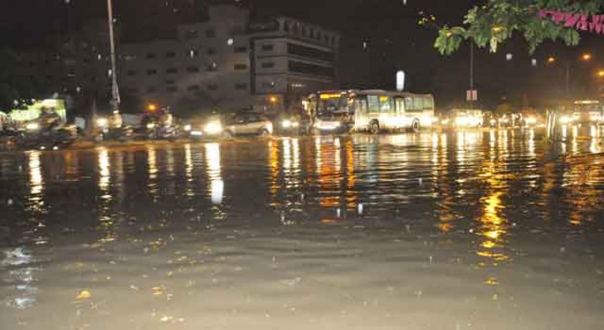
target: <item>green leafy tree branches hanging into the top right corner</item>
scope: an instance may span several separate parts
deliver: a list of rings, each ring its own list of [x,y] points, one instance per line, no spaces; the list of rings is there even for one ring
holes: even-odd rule
[[[463,25],[439,28],[434,47],[441,54],[457,51],[463,40],[470,39],[476,45],[489,47],[496,52],[498,46],[521,33],[534,52],[545,40],[562,40],[567,45],[577,45],[579,31],[567,27],[565,22],[554,22],[539,16],[540,10],[555,10],[570,14],[594,15],[604,7],[604,0],[488,0],[468,11]],[[422,17],[420,25],[435,25],[435,17]]]

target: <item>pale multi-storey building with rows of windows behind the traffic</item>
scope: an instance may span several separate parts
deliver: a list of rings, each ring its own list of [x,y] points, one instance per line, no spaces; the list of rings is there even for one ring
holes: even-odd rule
[[[251,24],[248,10],[233,5],[210,7],[208,17],[179,25],[172,40],[121,45],[123,96],[177,114],[276,112],[336,87],[337,33],[286,17]]]

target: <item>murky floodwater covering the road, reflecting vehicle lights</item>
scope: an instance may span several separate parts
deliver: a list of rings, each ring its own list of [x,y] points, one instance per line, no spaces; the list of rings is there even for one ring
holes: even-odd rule
[[[0,329],[601,329],[604,154],[539,130],[0,154]]]

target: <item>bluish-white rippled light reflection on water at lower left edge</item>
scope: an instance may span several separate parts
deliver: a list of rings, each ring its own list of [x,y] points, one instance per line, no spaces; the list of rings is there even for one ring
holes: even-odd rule
[[[34,271],[40,268],[31,267],[33,258],[31,252],[24,247],[15,247],[2,250],[0,255],[0,268],[9,268],[8,278],[4,281],[14,284],[14,294],[8,294],[5,302],[12,308],[31,308],[37,301],[37,287]]]

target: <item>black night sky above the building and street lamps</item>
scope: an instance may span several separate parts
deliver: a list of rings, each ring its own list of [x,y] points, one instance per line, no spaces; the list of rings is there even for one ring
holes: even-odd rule
[[[127,39],[144,39],[145,27],[170,27],[178,22],[199,21],[205,13],[200,0],[114,0],[115,12]],[[216,1],[214,1],[216,2]],[[323,25],[342,34],[342,87],[393,89],[394,71],[408,74],[408,89],[432,92],[440,106],[463,104],[469,85],[469,45],[453,56],[440,56],[432,47],[436,31],[419,27],[419,11],[434,14],[439,24],[459,24],[464,13],[480,1],[470,0],[243,0],[254,16],[285,15]],[[454,3],[454,5],[453,5]],[[82,22],[106,14],[104,0],[10,1],[2,12],[0,37],[15,47],[43,48],[54,37],[80,27]],[[261,18],[261,17],[259,17]],[[583,34],[577,47],[547,43],[531,56],[518,37],[499,52],[477,51],[476,85],[487,107],[510,101],[539,105],[564,89],[564,69],[545,66],[547,56],[576,59],[590,51],[594,61],[573,64],[573,83],[587,85],[604,58],[602,37]],[[368,49],[362,49],[362,42]],[[506,61],[506,54],[513,60]],[[536,58],[539,65],[530,66]],[[576,61],[573,61],[573,63]],[[593,81],[591,81],[593,82]]]

